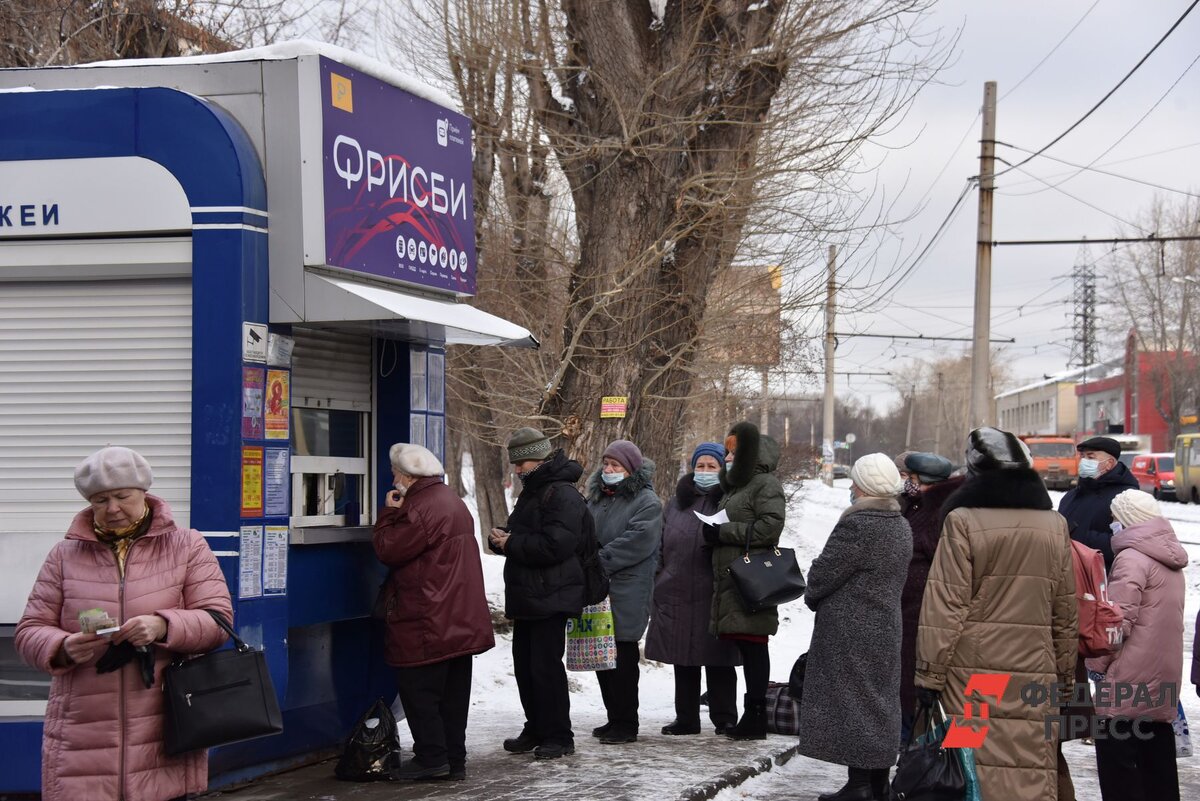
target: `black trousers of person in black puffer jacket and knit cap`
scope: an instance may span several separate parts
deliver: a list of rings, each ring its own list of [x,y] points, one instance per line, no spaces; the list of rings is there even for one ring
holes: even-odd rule
[[[575,745],[566,688],[566,615],[512,621],[512,673],[524,709],[524,730],[539,743]]]

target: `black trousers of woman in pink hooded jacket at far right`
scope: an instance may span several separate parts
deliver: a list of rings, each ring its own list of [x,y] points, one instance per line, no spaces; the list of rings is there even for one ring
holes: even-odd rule
[[[1096,737],[1104,801],[1180,801],[1175,729],[1170,723],[1110,718]]]

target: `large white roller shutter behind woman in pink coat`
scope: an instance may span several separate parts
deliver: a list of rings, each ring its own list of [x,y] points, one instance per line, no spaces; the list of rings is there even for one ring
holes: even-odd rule
[[[84,502],[73,474],[106,445],[154,468],[188,525],[192,287],[186,278],[0,283],[0,622],[19,615]]]

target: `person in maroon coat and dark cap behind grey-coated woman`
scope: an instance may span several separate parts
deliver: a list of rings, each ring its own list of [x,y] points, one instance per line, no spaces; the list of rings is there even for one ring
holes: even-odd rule
[[[943,456],[918,452],[904,456],[905,469],[900,475],[907,474],[910,477],[905,481],[900,508],[912,529],[912,561],[908,562],[908,577],[900,596],[904,615],[904,640],[900,648],[901,742],[908,734],[917,707],[917,689],[913,685],[917,673],[917,624],[920,622],[920,600],[925,596],[929,566],[934,564],[937,542],[942,536],[942,504],[966,481],[964,476],[950,477],[954,465]]]

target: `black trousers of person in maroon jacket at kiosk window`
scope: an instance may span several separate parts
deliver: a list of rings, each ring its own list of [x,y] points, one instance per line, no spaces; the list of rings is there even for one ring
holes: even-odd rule
[[[396,668],[396,688],[413,733],[413,755],[426,767],[467,764],[472,657]]]

